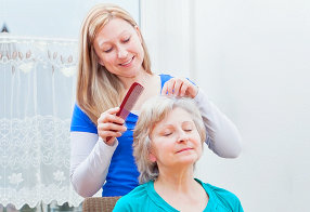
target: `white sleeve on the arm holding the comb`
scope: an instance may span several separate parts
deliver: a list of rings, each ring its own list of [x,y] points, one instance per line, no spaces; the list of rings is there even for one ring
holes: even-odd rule
[[[106,145],[94,133],[70,132],[70,181],[80,196],[91,197],[100,190],[117,145],[117,140]]]

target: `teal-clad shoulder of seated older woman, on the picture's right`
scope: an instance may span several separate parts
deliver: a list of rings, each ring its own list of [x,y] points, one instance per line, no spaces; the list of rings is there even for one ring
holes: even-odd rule
[[[231,191],[223,188],[204,184],[214,195],[214,199],[224,208],[231,209],[232,211],[243,211],[240,199]]]

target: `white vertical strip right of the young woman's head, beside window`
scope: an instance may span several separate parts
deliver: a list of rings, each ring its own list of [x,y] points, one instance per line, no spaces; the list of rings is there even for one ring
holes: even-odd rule
[[[151,54],[152,70],[189,76],[191,69],[188,0],[141,0],[141,29]],[[171,13],[173,10],[173,13]]]

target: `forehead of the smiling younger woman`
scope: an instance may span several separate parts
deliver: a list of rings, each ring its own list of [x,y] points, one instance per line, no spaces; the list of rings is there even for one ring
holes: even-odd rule
[[[100,28],[98,35],[95,36],[95,40],[105,42],[121,36],[125,32],[132,32],[134,28],[131,24],[125,19],[116,17]]]

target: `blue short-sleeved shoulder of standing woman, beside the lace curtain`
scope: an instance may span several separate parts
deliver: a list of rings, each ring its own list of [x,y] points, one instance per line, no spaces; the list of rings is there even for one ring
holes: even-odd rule
[[[98,133],[95,124],[77,104],[75,104],[73,111],[70,131]]]

